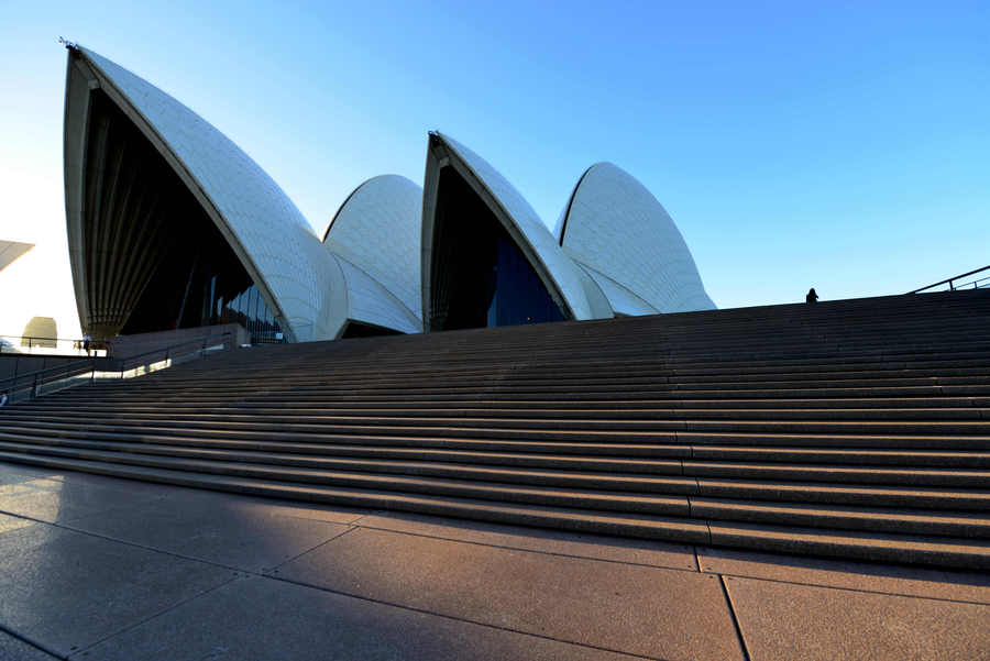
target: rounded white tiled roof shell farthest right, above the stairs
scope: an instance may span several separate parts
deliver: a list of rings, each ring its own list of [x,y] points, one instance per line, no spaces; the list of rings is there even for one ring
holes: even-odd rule
[[[667,210],[642,184],[610,163],[584,173],[558,221],[557,234],[564,252],[588,267],[616,312],[715,308]]]

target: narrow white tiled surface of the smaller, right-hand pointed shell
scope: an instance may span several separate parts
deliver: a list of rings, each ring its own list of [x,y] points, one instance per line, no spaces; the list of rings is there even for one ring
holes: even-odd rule
[[[578,272],[578,265],[561,251],[560,245],[550,234],[547,225],[537,216],[536,210],[529,206],[529,202],[519,195],[519,191],[484,158],[449,135],[440,134],[440,137],[474,172],[477,178],[503,206],[513,222],[516,223],[516,227],[543,263],[547,273],[550,274],[550,277],[557,284],[558,289],[574,313],[574,319],[612,317],[610,309],[607,309],[607,307],[603,308],[602,305],[595,305],[595,301],[588,300],[582,284],[582,274]]]

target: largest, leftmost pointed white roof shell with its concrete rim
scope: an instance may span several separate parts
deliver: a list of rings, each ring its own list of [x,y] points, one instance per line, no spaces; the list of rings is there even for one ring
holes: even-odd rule
[[[330,288],[340,286],[339,269],[278,185],[238,145],[167,93],[92,51],[77,47],[73,55],[66,85],[66,214],[80,317],[87,317],[80,254],[87,95],[100,88],[194,194],[283,330],[297,341],[333,337],[338,329],[331,321]]]

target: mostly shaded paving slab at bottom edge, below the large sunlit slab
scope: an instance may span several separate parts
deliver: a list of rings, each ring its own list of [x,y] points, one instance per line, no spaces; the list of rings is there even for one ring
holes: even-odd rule
[[[632,658],[249,576],[70,659],[631,661]]]

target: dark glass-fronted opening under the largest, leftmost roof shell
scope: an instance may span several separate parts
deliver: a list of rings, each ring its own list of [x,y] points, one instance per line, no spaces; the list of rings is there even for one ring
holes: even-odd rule
[[[92,95],[82,247],[95,338],[240,322],[280,329],[248,272],[157,150]]]

